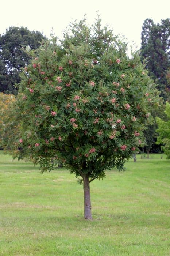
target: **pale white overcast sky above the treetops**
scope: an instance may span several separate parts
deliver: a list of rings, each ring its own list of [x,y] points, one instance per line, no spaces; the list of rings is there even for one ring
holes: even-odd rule
[[[103,24],[110,25],[115,35],[125,35],[140,48],[142,25],[146,18],[154,23],[170,16],[169,0],[6,0],[1,1],[0,34],[9,26],[38,30],[50,38],[51,29],[59,38],[70,21],[83,18],[92,24],[101,14]]]

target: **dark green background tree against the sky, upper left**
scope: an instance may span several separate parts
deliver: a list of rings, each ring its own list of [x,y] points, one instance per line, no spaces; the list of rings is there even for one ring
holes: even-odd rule
[[[23,27],[9,27],[0,35],[0,91],[16,93],[15,83],[20,82],[21,68],[29,62],[29,56],[22,51],[22,46],[36,49],[45,37],[38,31],[29,31]]]

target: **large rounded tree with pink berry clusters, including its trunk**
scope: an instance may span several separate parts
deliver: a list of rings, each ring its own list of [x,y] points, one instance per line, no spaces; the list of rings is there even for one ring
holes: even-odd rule
[[[42,172],[64,163],[84,186],[84,217],[92,219],[90,182],[105,169],[123,169],[143,145],[157,92],[134,53],[108,27],[85,20],[70,25],[60,42],[30,50],[16,104],[22,120],[13,142]]]

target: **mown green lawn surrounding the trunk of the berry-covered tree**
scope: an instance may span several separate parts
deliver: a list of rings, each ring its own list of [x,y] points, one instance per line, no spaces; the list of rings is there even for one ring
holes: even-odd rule
[[[0,255],[159,255],[170,253],[170,160],[127,162],[83,189],[66,169],[51,173],[0,154]]]

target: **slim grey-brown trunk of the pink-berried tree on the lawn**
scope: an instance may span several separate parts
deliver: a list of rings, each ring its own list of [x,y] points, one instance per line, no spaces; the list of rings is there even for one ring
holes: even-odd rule
[[[89,176],[84,175],[83,177],[83,189],[84,189],[84,218],[92,219],[91,212],[91,199],[90,199],[90,183]]]

